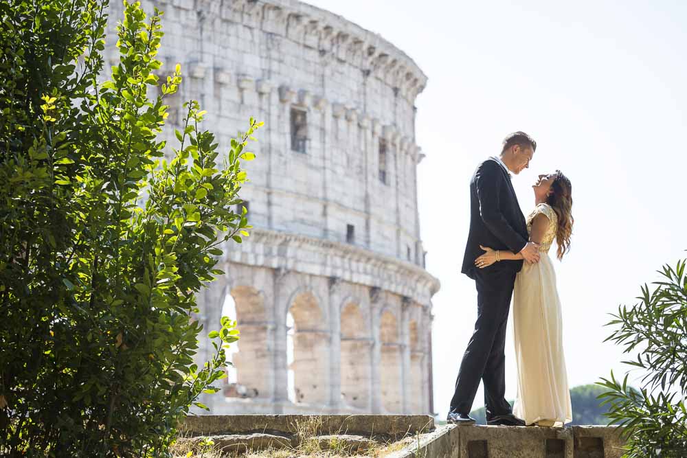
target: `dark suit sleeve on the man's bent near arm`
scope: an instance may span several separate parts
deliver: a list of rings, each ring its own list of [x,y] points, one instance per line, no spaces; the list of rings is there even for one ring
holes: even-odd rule
[[[500,165],[494,161],[486,161],[475,174],[477,199],[480,201],[480,216],[482,221],[499,240],[506,244],[513,253],[519,253],[527,244],[527,240],[508,224],[501,213],[499,195],[504,185],[504,174]]]

